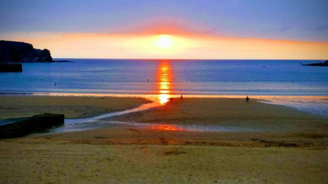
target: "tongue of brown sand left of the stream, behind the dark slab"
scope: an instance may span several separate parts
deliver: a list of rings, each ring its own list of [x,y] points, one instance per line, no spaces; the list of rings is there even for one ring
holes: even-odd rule
[[[88,118],[136,108],[151,101],[133,97],[0,96],[0,119],[30,117],[42,113],[65,114],[65,118]]]

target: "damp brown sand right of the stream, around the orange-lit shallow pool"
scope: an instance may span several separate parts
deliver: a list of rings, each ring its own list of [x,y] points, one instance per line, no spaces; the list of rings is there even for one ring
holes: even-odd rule
[[[296,109],[234,98],[174,99],[164,106],[105,118],[150,126],[109,127],[51,135],[78,139],[181,139],[276,142],[328,142],[327,119]],[[239,131],[188,131],[186,126],[208,126]],[[215,127],[216,126],[216,127]],[[211,128],[209,128],[211,130]]]

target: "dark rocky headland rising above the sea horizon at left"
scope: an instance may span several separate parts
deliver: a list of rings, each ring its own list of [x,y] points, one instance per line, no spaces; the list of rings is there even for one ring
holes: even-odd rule
[[[35,49],[30,43],[0,41],[0,62],[52,62],[48,49]]]

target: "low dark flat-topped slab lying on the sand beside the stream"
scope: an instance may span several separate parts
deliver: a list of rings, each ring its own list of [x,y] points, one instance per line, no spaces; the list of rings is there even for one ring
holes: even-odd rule
[[[0,121],[0,139],[20,137],[31,132],[45,130],[64,124],[64,114],[39,114],[29,118],[10,118]]]

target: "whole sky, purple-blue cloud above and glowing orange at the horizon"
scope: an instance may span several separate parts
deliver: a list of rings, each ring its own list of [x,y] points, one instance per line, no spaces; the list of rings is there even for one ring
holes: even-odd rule
[[[0,25],[53,58],[328,59],[327,0],[0,0]]]

